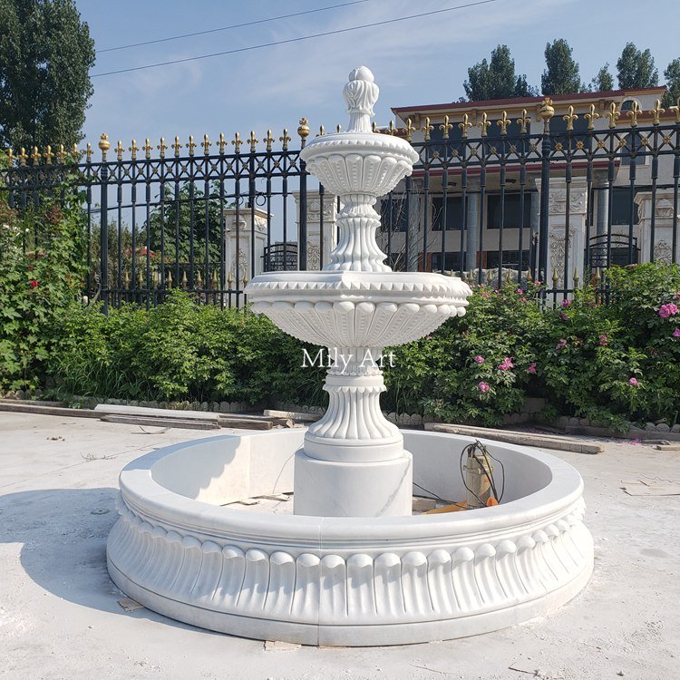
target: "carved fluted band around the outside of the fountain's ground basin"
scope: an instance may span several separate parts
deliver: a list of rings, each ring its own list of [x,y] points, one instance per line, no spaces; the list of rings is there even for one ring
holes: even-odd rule
[[[202,539],[127,508],[108,542],[112,566],[139,587],[226,614],[360,626],[469,617],[529,602],[592,565],[580,501],[529,533],[460,545],[335,554]],[[166,525],[169,526],[169,525]],[[153,565],[153,568],[149,568]]]

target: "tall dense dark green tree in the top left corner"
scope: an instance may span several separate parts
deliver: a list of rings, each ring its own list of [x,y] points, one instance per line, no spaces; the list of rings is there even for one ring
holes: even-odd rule
[[[74,0],[0,0],[0,147],[81,141],[90,29]]]

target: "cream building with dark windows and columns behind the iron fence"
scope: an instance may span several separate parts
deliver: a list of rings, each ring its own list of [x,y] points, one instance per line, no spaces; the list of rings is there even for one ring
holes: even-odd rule
[[[393,267],[532,268],[567,290],[588,269],[677,261],[680,114],[664,92],[393,108],[422,161],[382,203]]]

